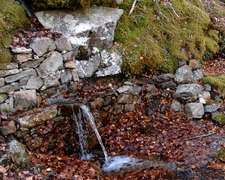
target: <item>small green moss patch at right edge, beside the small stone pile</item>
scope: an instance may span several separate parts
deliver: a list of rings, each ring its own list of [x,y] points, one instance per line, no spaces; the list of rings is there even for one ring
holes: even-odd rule
[[[225,95],[225,75],[205,76],[203,82],[214,86],[222,95]]]

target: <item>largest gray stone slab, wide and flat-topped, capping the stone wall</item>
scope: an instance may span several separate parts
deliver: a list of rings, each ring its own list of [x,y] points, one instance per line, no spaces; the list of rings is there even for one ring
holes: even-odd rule
[[[122,14],[121,9],[92,7],[87,13],[42,11],[35,15],[45,28],[62,33],[74,47],[90,43],[92,47],[106,48],[112,46],[116,24]]]

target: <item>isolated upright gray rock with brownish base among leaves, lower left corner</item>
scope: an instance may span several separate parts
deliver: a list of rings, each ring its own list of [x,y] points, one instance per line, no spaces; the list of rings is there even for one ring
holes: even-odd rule
[[[19,167],[25,168],[29,165],[29,155],[23,144],[17,140],[12,140],[9,142],[9,156],[11,160]]]

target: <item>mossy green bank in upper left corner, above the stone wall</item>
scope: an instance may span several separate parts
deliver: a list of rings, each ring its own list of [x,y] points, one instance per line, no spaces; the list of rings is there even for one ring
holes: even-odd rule
[[[24,9],[14,0],[0,0],[0,63],[11,61],[9,45],[14,32],[29,23]]]

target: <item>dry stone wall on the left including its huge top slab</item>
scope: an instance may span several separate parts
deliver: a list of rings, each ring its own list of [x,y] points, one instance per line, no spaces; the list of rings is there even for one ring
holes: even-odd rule
[[[86,13],[36,13],[45,28],[61,37],[36,37],[27,47],[11,49],[13,61],[0,67],[0,111],[36,107],[51,87],[121,73],[121,55],[110,48],[122,13],[104,7]]]

